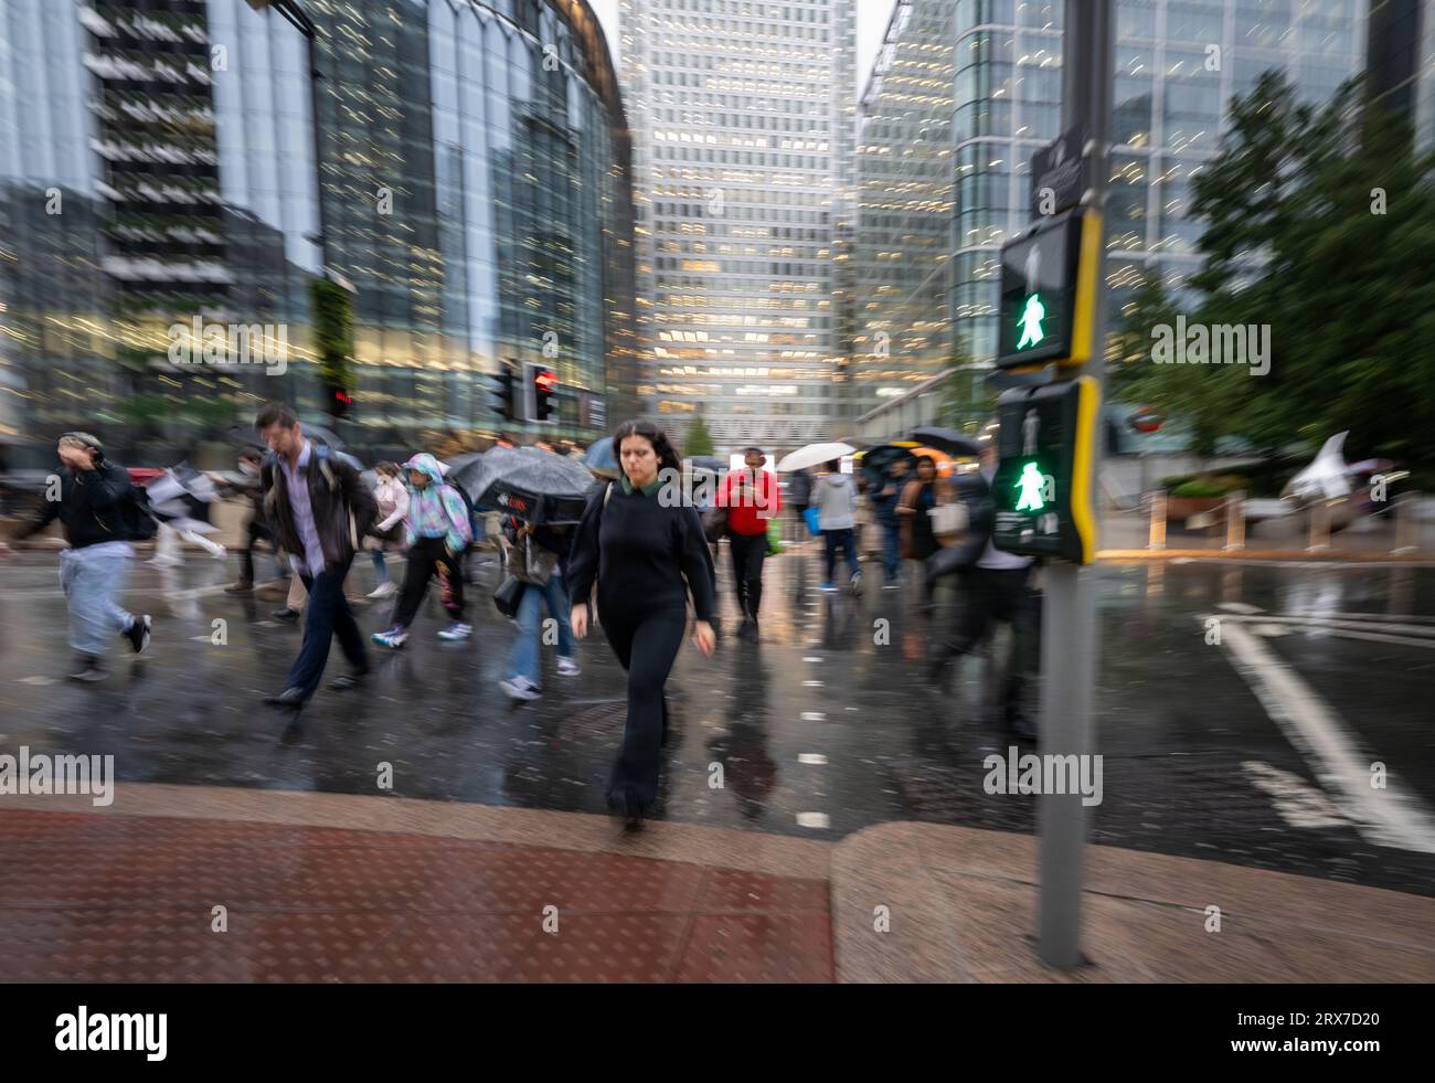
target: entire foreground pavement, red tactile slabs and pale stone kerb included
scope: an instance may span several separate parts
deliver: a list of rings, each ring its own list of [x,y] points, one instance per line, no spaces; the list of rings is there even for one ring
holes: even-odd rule
[[[1109,846],[1092,965],[1052,971],[1036,841],[933,823],[829,843],[121,783],[105,809],[0,796],[0,865],[10,981],[1435,980],[1435,899]]]

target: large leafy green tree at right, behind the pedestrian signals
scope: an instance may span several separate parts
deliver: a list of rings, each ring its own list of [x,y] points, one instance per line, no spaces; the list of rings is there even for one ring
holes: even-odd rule
[[[1200,271],[1178,297],[1147,283],[1114,336],[1122,396],[1188,417],[1205,452],[1349,429],[1352,455],[1435,460],[1435,156],[1408,136],[1359,80],[1314,108],[1270,72],[1234,99],[1192,186]],[[1152,364],[1152,330],[1181,314],[1269,327],[1269,372]]]

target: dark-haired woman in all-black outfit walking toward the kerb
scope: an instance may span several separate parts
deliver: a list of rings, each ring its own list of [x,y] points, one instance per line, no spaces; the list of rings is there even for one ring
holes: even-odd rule
[[[718,584],[697,509],[676,501],[664,506],[659,499],[659,470],[682,472],[663,430],[649,420],[624,422],[613,446],[621,476],[588,501],[573,542],[568,585],[573,634],[581,640],[588,634],[588,598],[597,581],[603,634],[629,674],[627,727],[608,779],[608,806],[634,828],[657,796],[667,736],[663,686],[687,628],[687,592],[697,615],[693,643],[710,656]]]

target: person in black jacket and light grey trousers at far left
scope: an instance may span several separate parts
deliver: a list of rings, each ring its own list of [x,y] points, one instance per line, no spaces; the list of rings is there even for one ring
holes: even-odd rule
[[[129,580],[135,555],[131,538],[139,531],[144,511],[135,503],[129,473],[105,459],[100,442],[89,433],[60,438],[57,453],[66,472],[59,478],[59,499],[16,535],[27,538],[56,518],[70,548],[60,554],[60,587],[70,614],[70,647],[79,656],[75,680],[103,680],[105,648],[122,635],[135,654],[149,645],[152,620],[126,613],[115,595]],[[0,544],[6,552],[9,547]]]

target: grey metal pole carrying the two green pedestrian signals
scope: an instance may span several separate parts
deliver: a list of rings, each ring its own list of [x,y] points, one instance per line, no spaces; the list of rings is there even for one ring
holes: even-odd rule
[[[1082,125],[1088,133],[1092,186],[1082,202],[1105,205],[1112,105],[1112,3],[1066,0],[1062,34],[1062,129]],[[1102,242],[1101,252],[1105,252]],[[1105,384],[1105,265],[1096,277],[1096,310],[1091,321],[1089,361],[1082,374]],[[1095,442],[1086,492],[1096,492],[1101,440]],[[1042,614],[1042,762],[1046,756],[1091,756],[1095,747],[1092,701],[1101,627],[1096,623],[1096,572],[1091,565],[1049,561],[1043,568]],[[1076,760],[1085,763],[1085,760]],[[1040,829],[1040,927],[1038,954],[1052,967],[1076,967],[1081,952],[1085,846],[1091,809],[1078,793],[1043,793]]]

